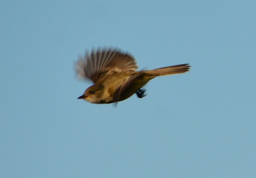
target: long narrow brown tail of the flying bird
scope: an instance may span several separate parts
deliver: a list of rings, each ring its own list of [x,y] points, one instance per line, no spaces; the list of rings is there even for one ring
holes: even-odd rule
[[[153,70],[144,71],[149,76],[161,76],[171,74],[181,74],[189,71],[190,66],[188,64],[172,65],[169,67],[162,67]]]

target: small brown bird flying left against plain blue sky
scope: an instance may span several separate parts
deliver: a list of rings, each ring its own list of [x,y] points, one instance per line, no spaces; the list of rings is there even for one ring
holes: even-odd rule
[[[108,104],[123,101],[133,94],[139,98],[146,96],[145,86],[151,79],[171,74],[188,72],[189,64],[172,65],[153,70],[138,69],[135,58],[118,48],[92,48],[75,62],[75,72],[82,79],[94,84],[77,99],[91,103]]]

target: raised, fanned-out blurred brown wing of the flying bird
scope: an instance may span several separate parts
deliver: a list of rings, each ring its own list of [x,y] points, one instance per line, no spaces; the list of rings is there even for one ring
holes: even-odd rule
[[[138,68],[134,58],[116,48],[98,48],[88,51],[76,64],[79,77],[90,79],[95,84],[103,84],[113,73],[135,71]]]

